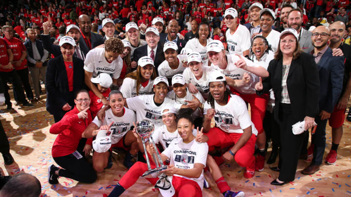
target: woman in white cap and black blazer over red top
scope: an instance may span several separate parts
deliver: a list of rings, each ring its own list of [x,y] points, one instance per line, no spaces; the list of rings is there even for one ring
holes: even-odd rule
[[[59,46],[62,54],[49,60],[45,80],[46,110],[54,115],[56,123],[75,106],[75,92],[86,89],[84,62],[78,57],[73,57],[75,40],[70,36],[63,36]]]

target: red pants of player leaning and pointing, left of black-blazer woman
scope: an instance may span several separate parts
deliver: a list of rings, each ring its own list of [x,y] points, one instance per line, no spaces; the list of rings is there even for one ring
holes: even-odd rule
[[[251,121],[254,123],[258,134],[263,133],[263,118],[266,114],[266,107],[268,101],[268,94],[263,94],[258,96],[257,94],[239,94],[244,101],[250,104],[251,109]]]

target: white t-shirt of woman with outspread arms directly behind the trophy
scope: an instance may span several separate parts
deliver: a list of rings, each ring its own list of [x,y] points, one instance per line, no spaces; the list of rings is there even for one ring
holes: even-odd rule
[[[149,120],[154,125],[155,128],[163,125],[161,110],[166,106],[173,106],[177,110],[180,109],[181,104],[177,104],[174,100],[170,98],[165,98],[160,106],[156,106],[154,102],[154,94],[151,95],[141,95],[126,100],[128,108],[137,112],[137,120]]]

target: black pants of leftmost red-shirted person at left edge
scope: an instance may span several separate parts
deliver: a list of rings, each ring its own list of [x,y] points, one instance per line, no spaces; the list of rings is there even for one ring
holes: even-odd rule
[[[7,80],[9,80],[12,83],[14,90],[16,90],[18,101],[22,102],[23,104],[28,103],[28,101],[25,99],[22,84],[20,82],[20,77],[18,76],[17,71],[13,70],[11,72],[0,72],[0,77],[2,79],[3,88],[5,90],[5,104],[7,106],[12,106],[10,94],[8,93],[8,86],[6,84]]]

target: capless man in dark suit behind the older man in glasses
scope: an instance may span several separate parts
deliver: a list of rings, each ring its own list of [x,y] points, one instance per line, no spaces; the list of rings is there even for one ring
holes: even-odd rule
[[[175,42],[178,46],[178,54],[180,54],[183,47],[185,47],[186,41],[179,38],[179,36],[177,35],[178,31],[179,25],[176,19],[170,20],[167,26],[168,34],[160,35],[160,43],[163,46],[166,42]]]

